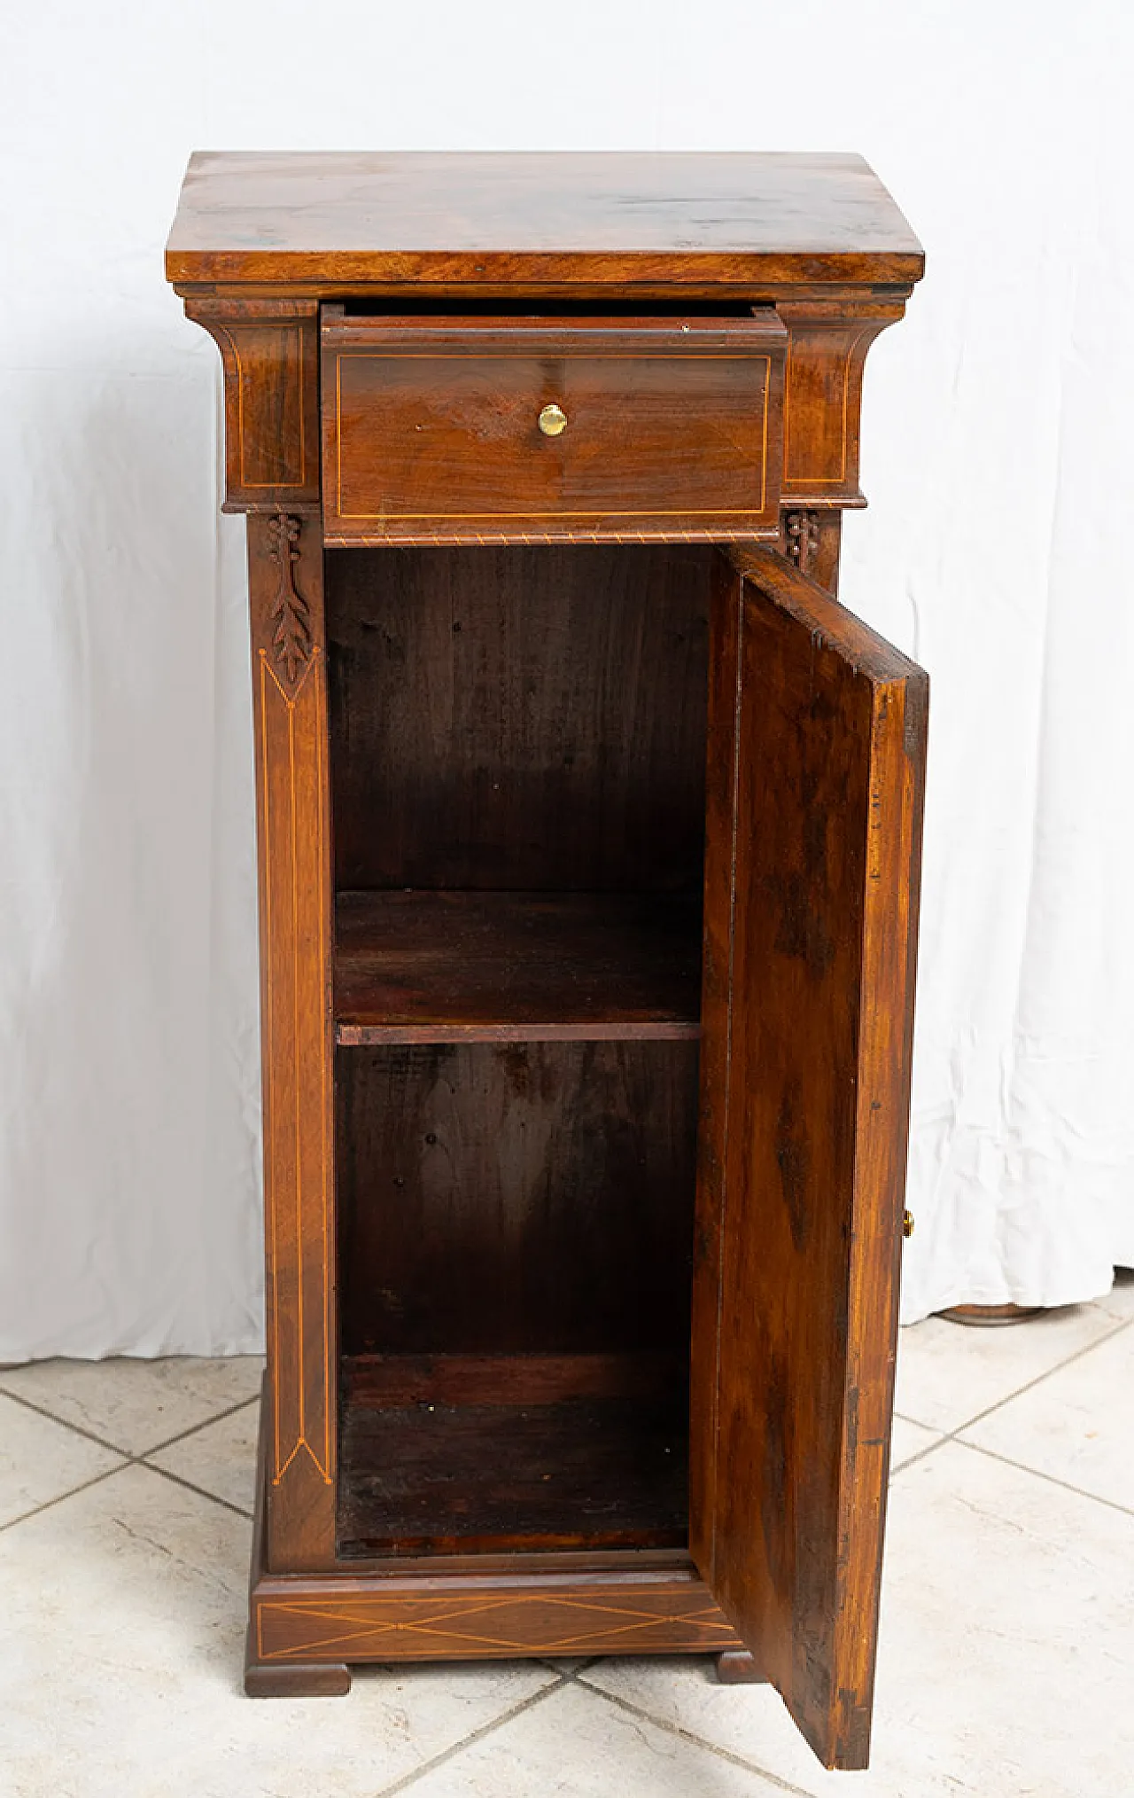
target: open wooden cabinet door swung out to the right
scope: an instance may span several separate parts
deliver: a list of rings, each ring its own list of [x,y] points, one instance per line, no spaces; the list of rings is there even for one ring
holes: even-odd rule
[[[692,1553],[864,1767],[897,1341],[926,674],[784,557],[713,595]]]

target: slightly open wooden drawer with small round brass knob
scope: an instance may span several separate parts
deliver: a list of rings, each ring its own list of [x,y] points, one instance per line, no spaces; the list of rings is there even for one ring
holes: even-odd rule
[[[322,318],[327,543],[737,539],[778,521],[787,333]]]

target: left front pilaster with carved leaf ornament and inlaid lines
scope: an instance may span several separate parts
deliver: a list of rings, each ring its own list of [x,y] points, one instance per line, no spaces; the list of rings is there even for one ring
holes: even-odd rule
[[[248,520],[261,868],[268,1566],[334,1561],[331,845],[322,547]]]

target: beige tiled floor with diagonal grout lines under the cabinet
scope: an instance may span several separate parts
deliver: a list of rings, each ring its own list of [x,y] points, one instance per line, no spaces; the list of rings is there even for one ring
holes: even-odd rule
[[[0,1798],[1130,1798],[1134,1277],[902,1334],[873,1766],[699,1660],[241,1696],[255,1361],[0,1368]]]

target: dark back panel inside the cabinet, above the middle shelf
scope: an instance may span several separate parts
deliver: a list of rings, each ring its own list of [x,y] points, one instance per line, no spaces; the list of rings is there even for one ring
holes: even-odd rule
[[[715,554],[329,550],[336,886],[699,890]]]

